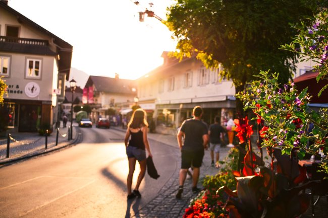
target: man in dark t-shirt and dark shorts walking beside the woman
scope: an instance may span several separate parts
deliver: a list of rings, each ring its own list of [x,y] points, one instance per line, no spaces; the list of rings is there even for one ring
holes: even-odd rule
[[[183,121],[179,129],[177,139],[181,150],[181,170],[179,173],[179,190],[176,195],[181,198],[183,192],[183,184],[186,180],[187,171],[190,167],[193,168],[192,175],[192,192],[199,192],[197,182],[199,178],[199,168],[204,157],[204,148],[207,149],[208,134],[207,125],[201,121],[203,110],[200,106],[194,107],[193,118]],[[184,143],[182,144],[182,137]]]

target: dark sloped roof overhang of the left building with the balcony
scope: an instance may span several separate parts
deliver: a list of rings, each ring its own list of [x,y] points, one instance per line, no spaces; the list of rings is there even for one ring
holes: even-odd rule
[[[57,53],[60,55],[61,59],[58,60],[58,70],[59,72],[65,73],[67,75],[67,80],[69,78],[70,69],[71,69],[71,62],[72,62],[72,53],[73,53],[73,46],[64,41],[63,39],[59,38],[58,36],[54,35],[53,33],[49,32],[48,30],[44,29],[37,23],[31,21],[21,13],[17,12],[16,10],[12,9],[7,5],[7,3],[4,3],[3,1],[0,1],[0,8],[5,9],[9,13],[16,16],[17,20],[21,24],[32,26],[36,29],[38,29],[40,32],[45,33],[46,35],[53,38],[53,43],[56,44],[57,47]],[[8,46],[8,45],[6,45]],[[25,46],[25,45],[24,45]],[[17,48],[15,48],[17,49]],[[20,49],[22,49],[20,47]],[[26,49],[26,47],[23,47],[23,49]],[[15,51],[14,51],[15,52]],[[43,51],[44,54],[50,55],[48,53],[49,51]]]

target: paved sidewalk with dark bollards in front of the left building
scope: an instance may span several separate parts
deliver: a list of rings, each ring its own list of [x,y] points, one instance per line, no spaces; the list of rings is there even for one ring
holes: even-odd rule
[[[45,136],[39,135],[37,132],[13,132],[10,140],[9,158],[7,157],[7,140],[8,137],[0,138],[0,167],[11,164],[27,158],[63,149],[72,144],[78,143],[80,140],[79,128],[73,123],[73,134],[71,140],[68,140],[68,126],[63,128],[63,124],[59,128],[58,144],[56,146],[57,129],[47,136],[47,149],[45,149]]]

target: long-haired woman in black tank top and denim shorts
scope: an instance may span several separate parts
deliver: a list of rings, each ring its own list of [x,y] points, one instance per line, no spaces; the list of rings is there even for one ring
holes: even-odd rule
[[[128,161],[129,161],[129,174],[127,178],[128,199],[134,198],[136,196],[138,198],[141,197],[141,194],[139,192],[139,186],[146,172],[145,150],[147,150],[148,156],[152,157],[149,148],[148,137],[147,137],[148,123],[146,118],[147,115],[144,110],[142,109],[135,110],[128,124],[128,128],[124,139],[126,154],[128,156]],[[139,162],[140,173],[138,176],[137,184],[134,190],[132,191],[131,188],[132,179],[136,166],[136,161]]]

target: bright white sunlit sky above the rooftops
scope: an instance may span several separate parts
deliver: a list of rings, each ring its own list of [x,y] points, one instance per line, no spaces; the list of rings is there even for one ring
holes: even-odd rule
[[[166,20],[173,0],[9,0],[8,5],[73,46],[71,66],[93,76],[135,80],[163,63],[163,51],[176,48],[172,32],[139,11]],[[153,3],[150,8],[149,3]]]

